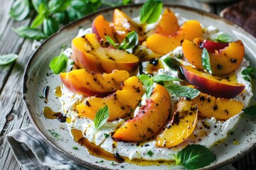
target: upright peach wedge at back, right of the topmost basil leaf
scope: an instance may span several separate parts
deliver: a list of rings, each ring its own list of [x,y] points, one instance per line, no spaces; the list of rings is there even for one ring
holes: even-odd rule
[[[162,35],[172,35],[178,30],[178,19],[175,14],[169,9],[165,8],[159,24],[156,26],[156,33]]]

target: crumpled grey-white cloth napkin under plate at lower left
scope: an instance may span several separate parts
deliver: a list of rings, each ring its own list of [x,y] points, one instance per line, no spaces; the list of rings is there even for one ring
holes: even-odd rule
[[[6,138],[23,169],[86,169],[53,149],[32,126],[13,130]]]

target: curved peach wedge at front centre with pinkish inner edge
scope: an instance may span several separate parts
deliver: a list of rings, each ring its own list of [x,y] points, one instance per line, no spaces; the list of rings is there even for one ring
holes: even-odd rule
[[[140,142],[154,137],[166,123],[171,109],[168,91],[159,84],[154,88],[146,105],[139,109],[139,113],[114,132],[113,140],[125,142]]]

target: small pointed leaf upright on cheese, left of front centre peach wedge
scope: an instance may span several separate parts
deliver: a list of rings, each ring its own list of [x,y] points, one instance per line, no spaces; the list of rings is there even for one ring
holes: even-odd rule
[[[98,130],[104,123],[107,122],[107,118],[110,115],[110,111],[105,105],[103,108],[100,108],[99,111],[97,111],[94,119],[94,125],[95,125],[95,131]]]

